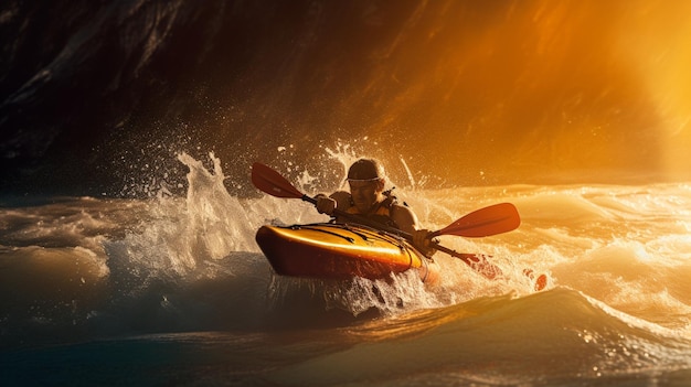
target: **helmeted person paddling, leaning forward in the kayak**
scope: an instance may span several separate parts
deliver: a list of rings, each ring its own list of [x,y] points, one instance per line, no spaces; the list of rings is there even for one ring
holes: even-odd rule
[[[386,183],[384,169],[374,159],[360,159],[348,170],[350,193],[338,191],[330,196],[319,194],[317,211],[333,215],[336,208],[349,214],[365,216],[366,218],[397,228],[413,236],[415,247],[426,256],[435,250],[430,247],[428,229],[419,228],[417,216],[411,208],[400,205],[390,191],[384,191]],[[337,222],[340,222],[337,217]]]

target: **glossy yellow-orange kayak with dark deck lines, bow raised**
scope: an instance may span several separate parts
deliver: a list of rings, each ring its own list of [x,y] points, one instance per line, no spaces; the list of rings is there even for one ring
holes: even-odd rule
[[[256,241],[277,275],[343,280],[416,270],[434,283],[438,268],[405,239],[355,224],[262,226]]]

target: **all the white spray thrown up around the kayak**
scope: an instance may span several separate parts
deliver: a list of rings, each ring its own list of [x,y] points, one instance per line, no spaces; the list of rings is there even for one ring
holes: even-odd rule
[[[357,146],[347,143],[339,143],[334,149],[327,148],[319,164],[332,162],[341,165],[344,176],[353,161],[366,157],[355,148]],[[287,176],[293,176],[289,180],[299,191],[308,194],[328,192],[329,184],[325,184],[328,179],[325,176],[330,172],[313,172],[291,161],[293,152],[297,151],[295,146],[281,147],[277,151],[286,158],[283,162],[284,170]],[[263,224],[290,225],[328,219],[318,214],[313,206],[299,200],[270,195],[240,198],[231,195],[226,190],[228,182],[221,160],[213,152],[209,153],[206,162],[187,153],[180,153],[178,160],[189,169],[184,200],[163,196],[151,201],[146,226],[129,233],[123,240],[109,244],[114,265],[120,261],[119,266],[115,266],[130,267],[116,272],[121,278],[127,278],[126,282],[132,283],[135,288],[146,289],[150,283],[161,280],[171,283],[205,280],[216,276],[217,270],[232,273],[236,266],[233,260],[237,259],[237,254],[258,252],[254,235]],[[414,175],[414,169],[404,160],[400,161],[405,171],[404,179],[410,184],[396,190],[396,195],[419,215],[421,224],[437,229],[447,222],[440,223],[438,217],[455,219],[465,215],[438,203],[434,195],[429,195],[432,191],[421,190],[422,186],[415,183],[419,180]],[[396,185],[393,179],[389,181],[390,185]],[[342,176],[337,176],[336,181],[342,182]],[[341,189],[338,183],[331,187]],[[444,244],[460,251],[481,251],[474,243],[449,239]],[[317,307],[320,310],[337,309],[354,316],[374,310],[384,315],[393,315],[418,309],[442,308],[477,297],[508,292],[532,293],[533,284],[523,275],[525,266],[512,265],[508,259],[510,251],[493,254],[504,271],[501,281],[487,281],[457,259],[438,254],[435,260],[445,273],[438,287],[427,287],[416,276],[408,276],[410,273],[395,275],[382,281],[353,279],[338,283],[270,276],[267,302],[274,307],[297,304],[300,301],[294,300],[296,294],[302,294],[305,289],[309,289],[309,295],[304,295],[310,300],[320,300]],[[162,302],[168,304],[169,300]]]

